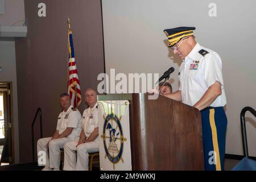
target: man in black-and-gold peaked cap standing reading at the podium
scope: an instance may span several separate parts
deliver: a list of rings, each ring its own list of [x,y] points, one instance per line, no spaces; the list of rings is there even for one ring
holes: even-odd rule
[[[195,29],[164,30],[168,47],[182,60],[180,88],[165,96],[201,111],[205,170],[223,170],[227,119],[222,63],[218,53],[196,42]]]

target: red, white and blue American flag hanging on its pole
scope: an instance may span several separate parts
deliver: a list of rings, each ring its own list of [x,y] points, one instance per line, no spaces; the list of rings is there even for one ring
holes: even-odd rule
[[[68,21],[68,94],[71,104],[77,108],[81,104],[81,89],[76,68],[75,53],[73,47],[72,31],[70,20]]]

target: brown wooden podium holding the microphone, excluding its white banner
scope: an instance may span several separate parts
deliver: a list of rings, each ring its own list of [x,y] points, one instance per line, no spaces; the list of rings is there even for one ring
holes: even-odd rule
[[[201,114],[194,107],[148,94],[109,94],[98,101],[128,100],[133,170],[204,170]]]

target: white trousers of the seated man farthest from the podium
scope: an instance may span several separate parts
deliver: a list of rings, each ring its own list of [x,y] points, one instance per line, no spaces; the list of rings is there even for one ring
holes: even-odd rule
[[[38,149],[38,159],[42,154],[46,154],[46,163],[39,164],[39,166],[46,166],[49,168],[60,168],[60,148],[63,148],[64,144],[72,141],[72,138],[57,138],[52,139],[51,137],[48,138],[41,138],[38,140],[37,149]],[[49,142],[50,141],[50,142]],[[47,147],[47,143],[48,147]],[[40,153],[39,153],[40,152]]]

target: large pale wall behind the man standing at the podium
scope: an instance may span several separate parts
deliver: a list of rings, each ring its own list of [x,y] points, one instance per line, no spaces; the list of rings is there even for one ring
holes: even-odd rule
[[[208,15],[216,3],[217,17]],[[171,66],[178,88],[181,61],[168,51],[163,30],[195,26],[196,40],[222,58],[228,104],[226,153],[242,155],[240,111],[256,109],[256,1],[102,0],[106,73],[159,73]],[[249,155],[256,156],[256,119],[246,114]]]

